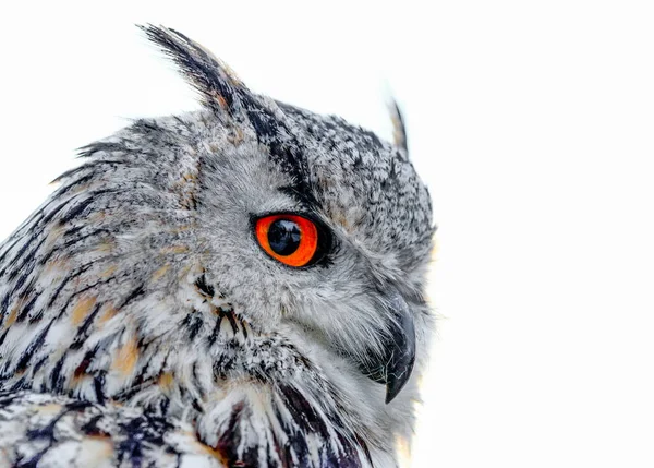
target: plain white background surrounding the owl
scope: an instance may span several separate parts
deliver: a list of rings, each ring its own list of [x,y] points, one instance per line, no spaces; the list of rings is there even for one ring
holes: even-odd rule
[[[392,93],[439,225],[413,466],[654,466],[651,1],[102,3],[0,7],[1,238],[75,147],[196,108],[133,23],[384,136]]]

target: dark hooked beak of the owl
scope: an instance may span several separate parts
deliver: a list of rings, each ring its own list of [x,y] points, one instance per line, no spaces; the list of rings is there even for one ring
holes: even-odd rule
[[[373,365],[362,365],[375,382],[386,384],[386,404],[392,401],[409,381],[415,362],[415,327],[404,298],[390,287],[384,292],[392,313],[390,333],[385,339],[385,352]],[[375,359],[375,360],[377,360]]]

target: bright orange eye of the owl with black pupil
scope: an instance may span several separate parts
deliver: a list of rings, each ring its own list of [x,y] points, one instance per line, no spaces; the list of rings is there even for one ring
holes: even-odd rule
[[[284,265],[304,266],[318,250],[318,229],[302,216],[264,216],[256,220],[254,232],[262,249]]]

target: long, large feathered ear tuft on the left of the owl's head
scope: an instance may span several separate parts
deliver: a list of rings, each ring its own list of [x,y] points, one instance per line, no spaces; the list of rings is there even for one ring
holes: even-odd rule
[[[250,91],[227,64],[178,31],[152,24],[137,26],[174,61],[199,92],[205,107],[230,117],[243,110],[243,98]]]

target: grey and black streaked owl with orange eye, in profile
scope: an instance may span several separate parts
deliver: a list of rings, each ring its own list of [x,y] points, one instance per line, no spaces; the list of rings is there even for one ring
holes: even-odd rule
[[[393,144],[142,26],[201,109],[136,120],[0,244],[0,467],[397,466],[433,320]]]

